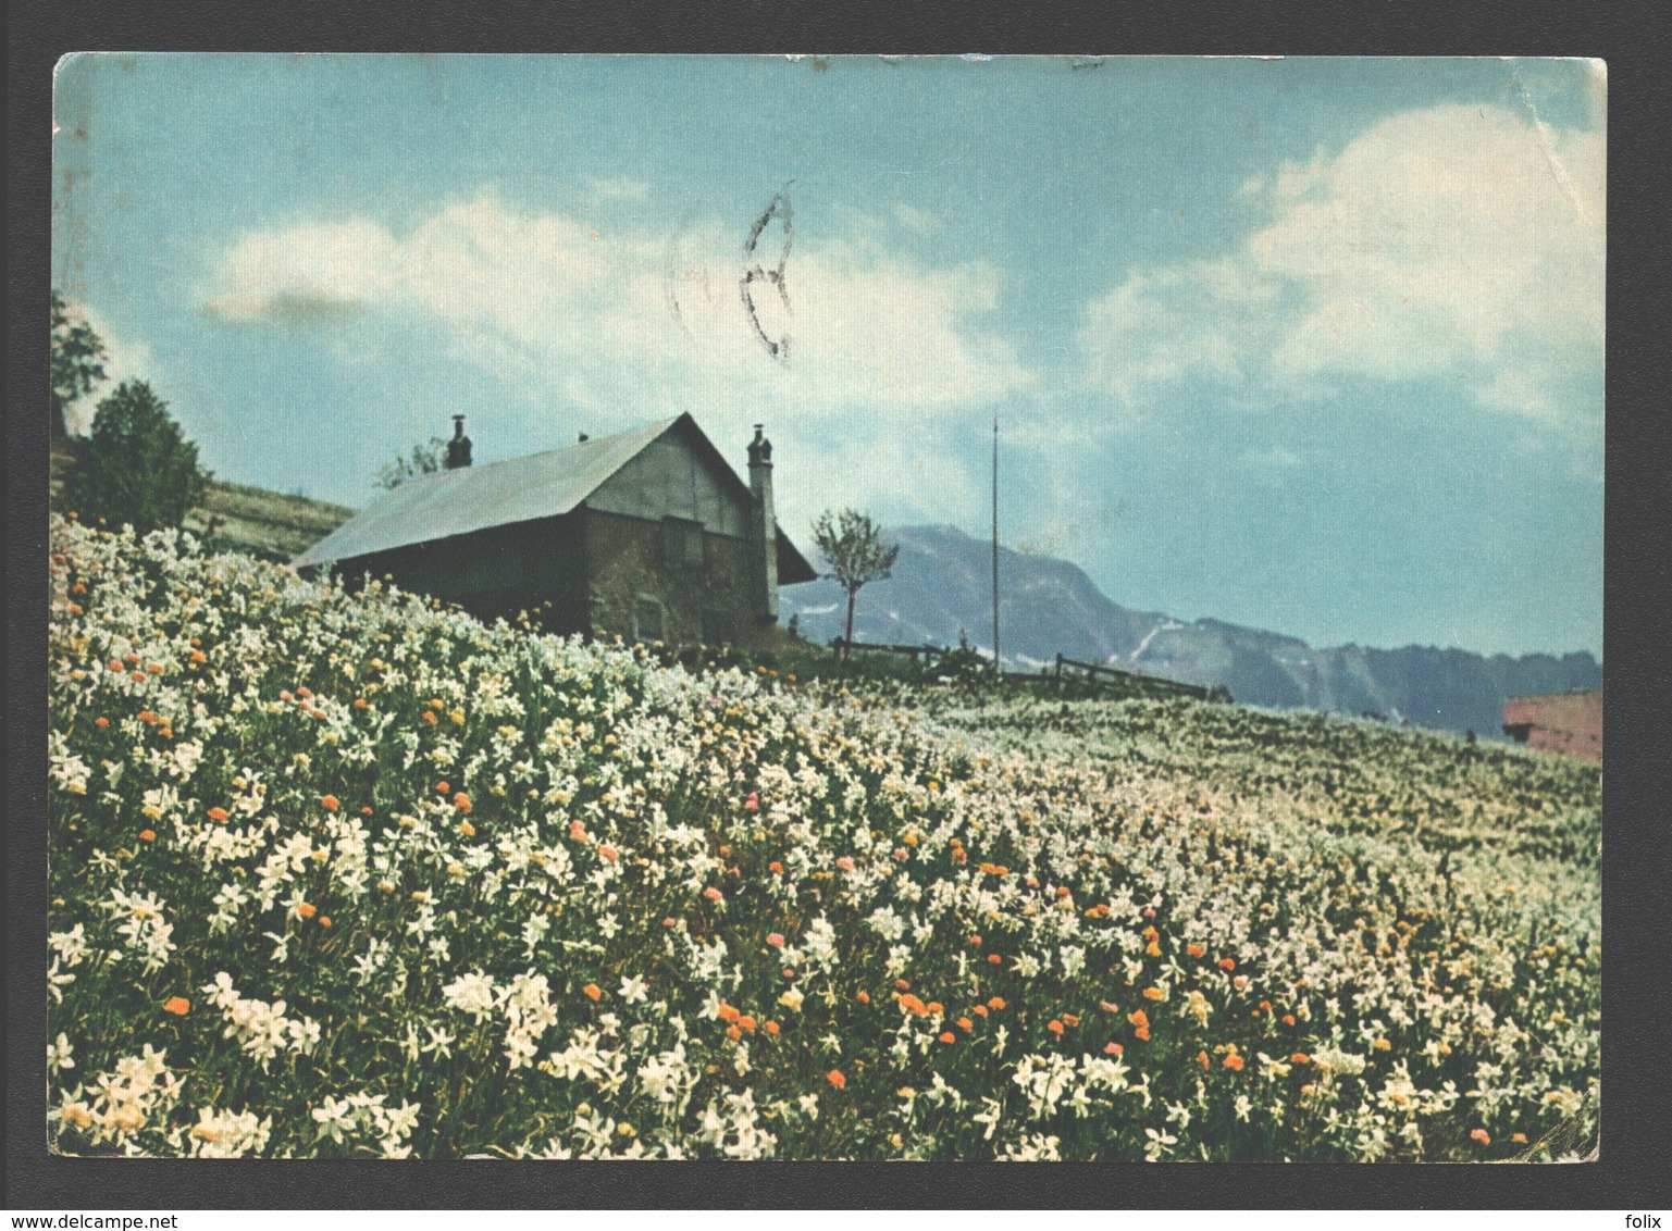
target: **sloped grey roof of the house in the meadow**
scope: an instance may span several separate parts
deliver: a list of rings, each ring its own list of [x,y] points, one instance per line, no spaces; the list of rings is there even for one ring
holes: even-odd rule
[[[498,525],[560,517],[573,512],[615,472],[681,423],[689,425],[692,442],[707,453],[716,470],[741,490],[746,500],[752,500],[754,493],[687,413],[614,437],[584,440],[567,448],[411,478],[373,500],[298,555],[291,567],[309,569]],[[813,580],[816,575],[781,529],[777,555],[781,574],[806,574],[784,575],[786,584]]]

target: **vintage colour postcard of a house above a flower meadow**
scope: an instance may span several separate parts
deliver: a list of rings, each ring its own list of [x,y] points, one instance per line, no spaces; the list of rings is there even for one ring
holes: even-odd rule
[[[1595,1157],[1605,104],[67,57],[54,1152]]]

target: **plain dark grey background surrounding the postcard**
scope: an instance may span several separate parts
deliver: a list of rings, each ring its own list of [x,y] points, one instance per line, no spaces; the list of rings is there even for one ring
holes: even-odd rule
[[[665,12],[662,12],[665,8]],[[7,1208],[1667,1209],[1672,707],[1665,365],[1672,50],[1660,7],[50,3],[8,13]],[[72,50],[1582,55],[1608,62],[1602,1161],[1573,1166],[217,1162],[45,1151],[52,67]],[[1515,500],[1517,493],[1505,493]]]

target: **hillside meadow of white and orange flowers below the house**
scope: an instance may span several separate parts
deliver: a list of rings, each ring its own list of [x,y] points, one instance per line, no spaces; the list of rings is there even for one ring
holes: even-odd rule
[[[52,550],[64,1152],[1488,1161],[1595,1116],[1595,766]]]

